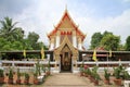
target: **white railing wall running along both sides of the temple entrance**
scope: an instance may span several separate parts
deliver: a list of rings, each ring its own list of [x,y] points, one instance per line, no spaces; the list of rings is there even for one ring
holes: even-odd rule
[[[37,61],[3,61],[2,60],[2,61],[0,61],[0,67],[4,69],[4,71],[9,71],[9,67],[15,67],[15,71],[16,71],[16,69],[20,69],[21,72],[28,72],[28,71],[34,70],[36,63],[37,63]],[[40,61],[40,64],[47,65],[48,63],[49,63],[49,61]],[[58,62],[50,62],[50,64],[54,66],[55,64],[60,64],[60,63]],[[78,66],[80,64],[82,64],[82,62],[77,62]],[[88,62],[83,62],[83,64],[98,65],[98,66],[100,66],[99,70],[104,70],[103,65],[105,65],[109,70],[113,70],[114,64],[116,64],[116,65],[122,64],[122,65],[129,66],[130,61],[98,61],[98,62],[88,61]],[[51,70],[53,71],[54,67],[51,67]]]

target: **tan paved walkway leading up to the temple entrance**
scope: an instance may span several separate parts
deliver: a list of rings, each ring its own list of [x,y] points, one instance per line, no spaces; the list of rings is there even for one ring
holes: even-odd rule
[[[78,74],[60,73],[52,74],[43,84],[43,87],[90,87],[89,80],[83,79]]]

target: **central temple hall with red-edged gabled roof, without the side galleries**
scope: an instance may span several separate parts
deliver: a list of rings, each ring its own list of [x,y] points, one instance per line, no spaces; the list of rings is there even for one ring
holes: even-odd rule
[[[60,72],[73,72],[78,60],[78,51],[84,50],[82,42],[86,35],[75,24],[67,10],[54,29],[48,34],[48,38],[49,50],[53,51],[54,60],[60,64]]]

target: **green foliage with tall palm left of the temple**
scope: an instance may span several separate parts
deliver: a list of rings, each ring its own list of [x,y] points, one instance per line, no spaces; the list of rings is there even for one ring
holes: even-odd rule
[[[10,17],[4,17],[0,21],[0,51],[10,50],[41,50],[43,47],[46,50],[48,47],[43,42],[39,42],[39,35],[35,32],[28,34],[24,38],[24,30],[21,27],[16,27],[17,22],[13,22]],[[8,54],[4,54],[8,57]],[[29,55],[29,54],[27,54]],[[38,55],[30,55],[31,58],[38,58]]]

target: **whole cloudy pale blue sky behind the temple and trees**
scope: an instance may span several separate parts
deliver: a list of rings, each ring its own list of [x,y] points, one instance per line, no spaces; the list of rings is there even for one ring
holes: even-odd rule
[[[130,0],[0,0],[0,20],[12,17],[26,35],[35,32],[40,41],[49,45],[47,35],[66,8],[79,29],[87,34],[83,41],[87,49],[96,32],[113,32],[120,36],[121,44],[130,36]]]

